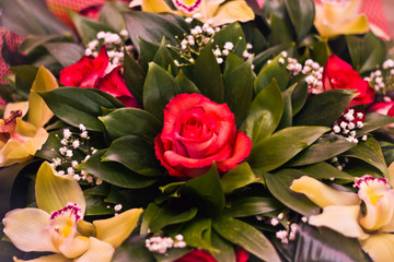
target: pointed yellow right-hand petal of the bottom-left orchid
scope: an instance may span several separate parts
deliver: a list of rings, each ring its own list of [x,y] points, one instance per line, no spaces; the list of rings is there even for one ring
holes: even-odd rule
[[[119,247],[136,227],[142,211],[142,209],[132,209],[107,219],[94,221],[96,238],[111,243],[114,248]]]

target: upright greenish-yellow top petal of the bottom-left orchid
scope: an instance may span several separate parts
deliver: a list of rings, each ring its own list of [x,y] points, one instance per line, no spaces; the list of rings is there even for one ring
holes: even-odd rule
[[[51,213],[72,202],[81,206],[82,216],[86,204],[79,183],[70,177],[59,176],[51,166],[44,162],[36,179],[36,202],[39,209]]]

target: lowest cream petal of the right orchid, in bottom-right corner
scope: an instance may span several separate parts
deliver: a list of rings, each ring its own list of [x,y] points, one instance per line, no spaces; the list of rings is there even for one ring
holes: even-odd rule
[[[374,262],[391,261],[394,257],[394,235],[375,234],[360,241],[362,250],[366,251]]]

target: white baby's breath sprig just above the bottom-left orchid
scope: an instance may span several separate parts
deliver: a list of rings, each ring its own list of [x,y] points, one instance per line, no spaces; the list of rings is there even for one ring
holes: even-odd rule
[[[58,134],[56,135],[60,140],[62,146],[59,147],[58,151],[53,148],[53,152],[58,156],[51,159],[50,166],[57,170],[59,175],[71,176],[77,181],[83,180],[89,183],[101,184],[103,182],[101,178],[95,178],[84,170],[76,169],[80,164],[74,156],[76,151],[85,155],[84,159],[81,160],[82,163],[88,160],[90,156],[97,151],[94,147],[89,146],[89,132],[82,123],[79,124],[79,133],[76,133],[71,132],[70,129],[63,129],[62,138]]]

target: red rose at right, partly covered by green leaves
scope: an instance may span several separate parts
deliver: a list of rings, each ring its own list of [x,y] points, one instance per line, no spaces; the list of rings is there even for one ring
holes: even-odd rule
[[[352,68],[335,55],[331,55],[323,71],[323,87],[328,90],[356,90],[358,95],[347,108],[370,104],[374,99],[374,91]]]

